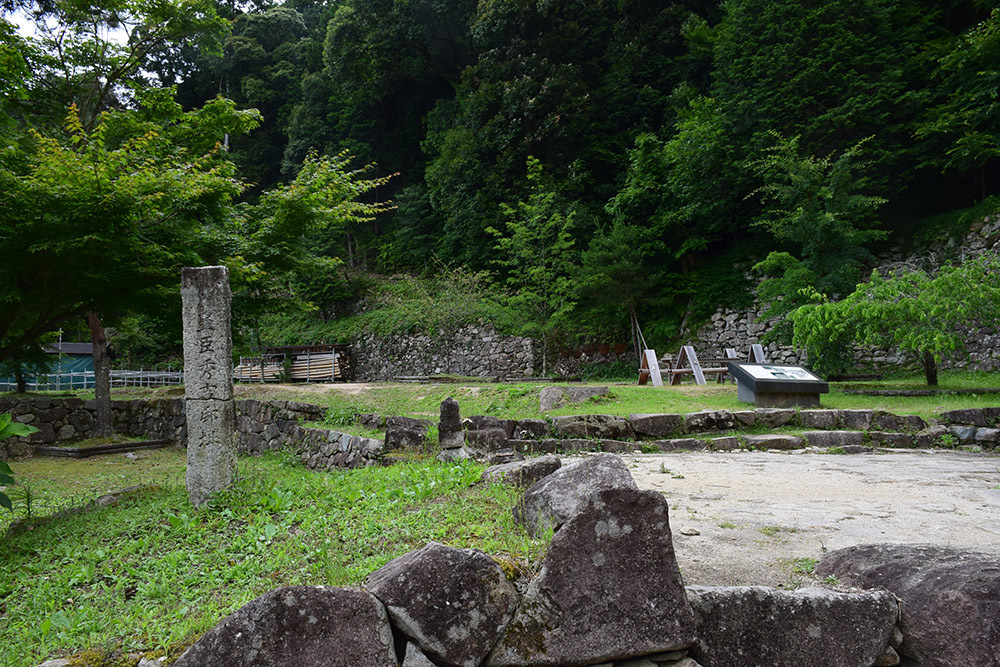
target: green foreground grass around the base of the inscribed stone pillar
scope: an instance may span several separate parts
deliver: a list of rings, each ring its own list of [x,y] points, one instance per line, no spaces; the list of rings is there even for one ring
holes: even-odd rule
[[[429,540],[525,565],[545,548],[514,525],[514,490],[471,486],[475,464],[317,473],[287,455],[241,458],[238,484],[204,509],[187,503],[176,449],[11,467],[36,502],[0,542],[0,665],[11,667],[88,647],[176,654],[266,591],[358,584]],[[117,505],[43,516],[135,484],[148,486]]]

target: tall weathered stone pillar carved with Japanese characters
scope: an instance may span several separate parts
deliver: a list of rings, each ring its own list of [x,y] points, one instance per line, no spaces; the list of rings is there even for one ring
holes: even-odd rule
[[[229,270],[181,269],[187,488],[194,505],[236,477]]]

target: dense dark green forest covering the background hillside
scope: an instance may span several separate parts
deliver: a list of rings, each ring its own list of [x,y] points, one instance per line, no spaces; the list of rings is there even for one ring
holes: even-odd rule
[[[288,226],[301,243],[258,252],[274,281],[245,302],[247,344],[441,317],[627,340],[634,316],[666,340],[745,301],[754,273],[787,307],[801,287],[842,297],[873,252],[919,243],[918,221],[1000,194],[1000,12],[981,0],[119,5],[147,23],[197,6],[201,22],[136,56],[119,82],[133,94],[102,108],[173,86],[187,113],[219,96],[259,112],[225,136],[233,210],[264,219],[317,155],[372,165],[371,215]],[[111,25],[124,11],[88,7]],[[4,48],[28,53],[9,28]],[[81,91],[41,84],[69,70],[15,60],[5,131],[56,126]],[[252,263],[213,247],[206,260]],[[268,265],[281,253],[297,260]],[[115,307],[123,349],[170,346],[138,340],[167,311]]]

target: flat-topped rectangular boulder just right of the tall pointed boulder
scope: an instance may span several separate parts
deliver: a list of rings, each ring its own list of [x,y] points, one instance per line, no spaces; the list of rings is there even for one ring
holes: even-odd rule
[[[899,615],[884,591],[782,591],[762,586],[690,586],[704,667],[871,667],[889,647]]]

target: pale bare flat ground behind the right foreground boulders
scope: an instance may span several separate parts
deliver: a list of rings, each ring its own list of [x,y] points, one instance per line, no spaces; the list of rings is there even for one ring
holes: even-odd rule
[[[802,450],[623,459],[639,488],[667,497],[687,584],[815,583],[794,571],[795,559],[871,542],[1000,551],[1000,455]]]

